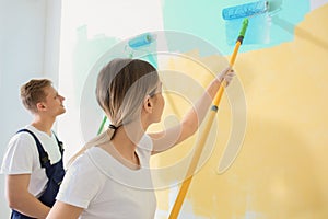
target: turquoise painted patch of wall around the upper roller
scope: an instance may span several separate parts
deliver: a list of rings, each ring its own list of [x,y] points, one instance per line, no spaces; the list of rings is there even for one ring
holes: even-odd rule
[[[164,28],[187,32],[218,47],[223,55],[231,54],[242,22],[238,20],[226,22],[222,19],[222,10],[236,4],[253,1],[210,0],[207,3],[197,0],[165,0],[163,4]],[[268,48],[294,39],[294,33],[286,32],[274,18],[286,21],[293,27],[304,20],[309,12],[309,1],[271,0],[269,12],[250,18],[249,28],[241,51]],[[168,45],[169,46],[169,45]]]

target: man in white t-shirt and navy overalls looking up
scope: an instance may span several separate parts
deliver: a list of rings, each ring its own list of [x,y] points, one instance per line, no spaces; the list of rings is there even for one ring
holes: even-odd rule
[[[51,130],[66,112],[63,96],[48,79],[33,79],[21,87],[21,99],[33,120],[10,140],[1,173],[12,219],[46,218],[65,175],[62,143]]]

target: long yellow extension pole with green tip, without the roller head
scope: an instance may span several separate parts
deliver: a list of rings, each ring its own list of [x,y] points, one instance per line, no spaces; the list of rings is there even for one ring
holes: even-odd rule
[[[247,28],[247,25],[248,25],[248,20],[245,19],[244,22],[243,22],[243,27],[242,27],[242,31],[239,33],[239,36],[238,36],[238,39],[235,44],[235,48],[234,48],[234,51],[231,56],[231,59],[230,59],[230,67],[233,67],[233,65],[235,64],[235,60],[236,60],[236,57],[237,57],[237,53],[239,50],[239,47],[243,43],[243,38],[244,38],[244,35],[245,35],[245,32],[246,32],[246,28]],[[197,142],[197,147],[196,147],[196,150],[194,152],[194,155],[192,155],[192,159],[191,159],[191,163],[190,163],[190,166],[187,171],[187,174],[186,174],[186,180],[184,181],[181,187],[180,187],[180,191],[178,193],[178,196],[175,200],[175,204],[172,208],[172,211],[171,211],[171,215],[169,215],[169,219],[176,219],[179,215],[179,211],[180,211],[180,208],[184,204],[184,199],[186,197],[186,194],[188,192],[188,188],[189,188],[189,185],[191,183],[191,180],[192,180],[192,174],[198,165],[198,161],[200,159],[200,155],[201,155],[201,152],[204,148],[204,145],[206,145],[206,141],[207,141],[207,138],[208,138],[208,135],[210,132],[210,129],[212,127],[212,124],[213,124],[213,120],[215,118],[215,115],[216,115],[216,112],[218,112],[218,106],[220,104],[220,101],[221,101],[221,97],[222,97],[222,94],[223,94],[223,91],[224,91],[224,88],[226,85],[226,82],[225,81],[222,81],[221,85],[220,85],[220,89],[218,91],[218,93],[215,94],[215,97],[213,100],[213,105],[211,107],[211,111],[210,111],[210,115],[208,117],[208,124],[207,126],[204,127],[204,130],[201,135],[201,137],[199,138],[198,142]]]

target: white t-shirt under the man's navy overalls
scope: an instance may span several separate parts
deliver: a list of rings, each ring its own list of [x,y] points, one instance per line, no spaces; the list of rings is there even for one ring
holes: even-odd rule
[[[49,136],[31,125],[24,128],[31,130],[38,138],[48,153],[51,164],[60,160],[61,154],[54,134]],[[31,174],[28,192],[37,198],[42,196],[46,189],[48,177],[46,169],[40,168],[37,146],[31,134],[19,132],[10,139],[3,157],[1,173],[5,175]]]

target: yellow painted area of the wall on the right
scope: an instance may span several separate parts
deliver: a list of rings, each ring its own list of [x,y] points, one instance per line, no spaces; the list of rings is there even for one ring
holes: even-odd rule
[[[238,55],[235,70],[247,103],[242,150],[233,165],[218,174],[232,119],[225,99],[218,115],[220,139],[194,176],[180,218],[328,218],[327,21],[326,4],[296,26],[293,42]],[[188,104],[180,101],[184,112]],[[167,103],[166,115],[171,111]],[[152,165],[184,158],[195,140],[154,157]],[[172,182],[175,173],[169,177],[162,180]],[[176,189],[157,189],[160,210],[169,212]]]

